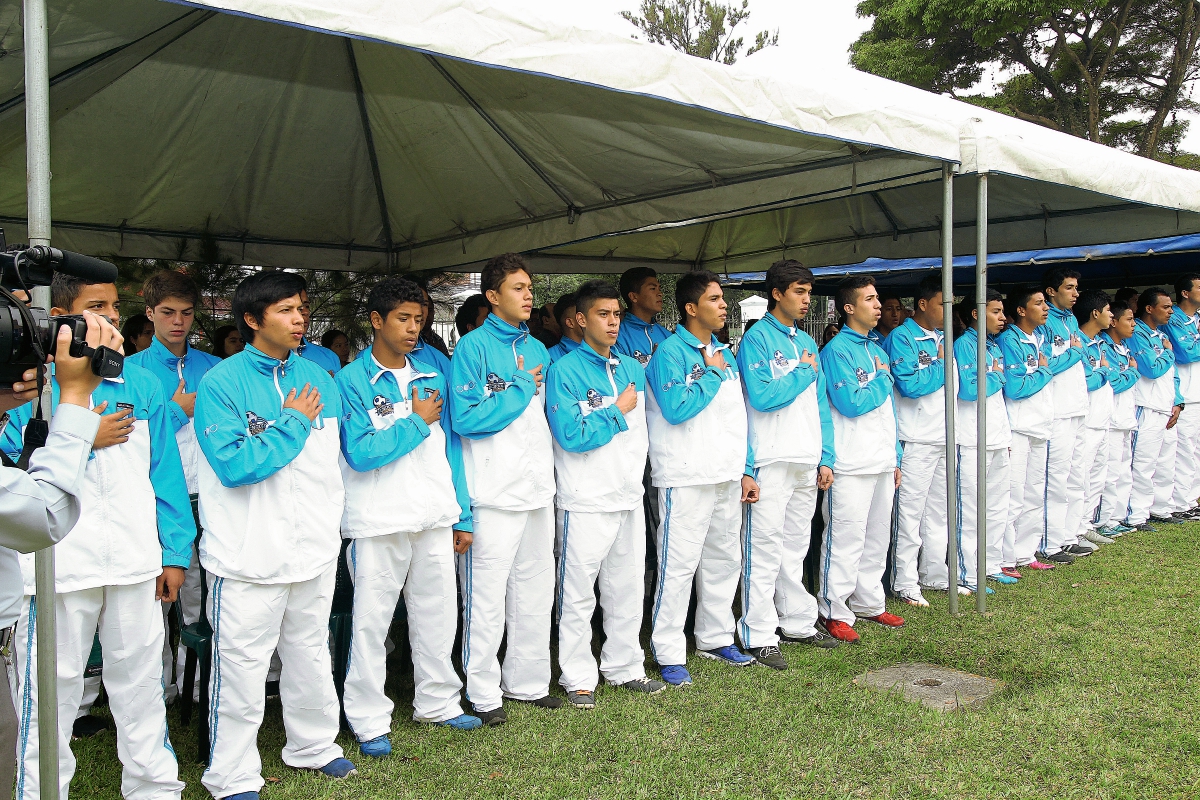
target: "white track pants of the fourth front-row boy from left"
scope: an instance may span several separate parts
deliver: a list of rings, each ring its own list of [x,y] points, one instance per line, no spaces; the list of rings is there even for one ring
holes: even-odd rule
[[[474,515],[475,541],[458,561],[462,667],[467,699],[476,711],[494,711],[504,697],[536,700],[550,692],[554,509],[476,507]]]

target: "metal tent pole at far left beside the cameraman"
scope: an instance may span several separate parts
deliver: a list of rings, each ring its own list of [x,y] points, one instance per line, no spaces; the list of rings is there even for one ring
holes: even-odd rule
[[[25,181],[29,243],[50,243],[50,72],[46,0],[24,0]],[[37,299],[35,299],[37,302]],[[44,302],[44,300],[43,300]],[[41,401],[47,419],[50,385]],[[54,618],[54,549],[34,557],[37,631],[37,742],[42,800],[59,798],[58,630]]]

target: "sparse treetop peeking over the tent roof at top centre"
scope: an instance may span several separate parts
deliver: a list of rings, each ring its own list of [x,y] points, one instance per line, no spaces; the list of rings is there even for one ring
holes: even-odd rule
[[[740,53],[744,40],[733,38],[733,29],[750,18],[750,0],[725,5],[709,0],[642,0],[641,16],[620,16],[655,44],[670,44],[680,53],[721,64],[733,64],[739,55],[751,55],[779,44],[779,31],[758,31],[754,44]]]

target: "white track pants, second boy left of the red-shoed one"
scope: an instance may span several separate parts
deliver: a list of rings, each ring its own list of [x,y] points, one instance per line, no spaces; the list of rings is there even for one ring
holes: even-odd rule
[[[683,632],[696,579],[696,649],[733,644],[738,591],[742,481],[659,491],[659,581],[650,648],[659,664],[688,661]]]

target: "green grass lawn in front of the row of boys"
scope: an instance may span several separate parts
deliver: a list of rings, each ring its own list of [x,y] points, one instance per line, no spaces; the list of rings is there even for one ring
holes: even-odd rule
[[[1196,798],[1200,524],[1134,533],[997,589],[989,616],[893,608],[901,631],[786,646],[786,673],[692,658],[695,685],[655,697],[601,687],[594,711],[508,704],[509,723],[418,727],[397,687],[395,753],[335,783],[287,768],[277,702],[259,735],[266,800],[301,798]],[[940,714],[856,675],[925,661],[997,678],[978,711]],[[557,686],[556,690],[558,691]],[[101,712],[97,710],[97,712]],[[169,712],[185,798],[205,798],[192,732]],[[118,798],[113,734],[76,742],[74,798]]]

